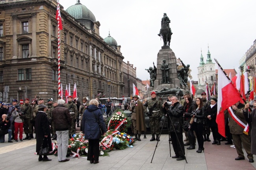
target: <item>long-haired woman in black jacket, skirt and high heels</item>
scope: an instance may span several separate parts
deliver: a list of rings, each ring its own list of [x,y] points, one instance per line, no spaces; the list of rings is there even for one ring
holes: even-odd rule
[[[198,153],[202,153],[204,151],[204,137],[203,137],[203,129],[204,129],[204,106],[203,100],[200,97],[196,99],[197,108],[194,110],[193,118],[194,122],[191,124],[191,128],[189,131],[195,131],[197,135],[198,142]]]

